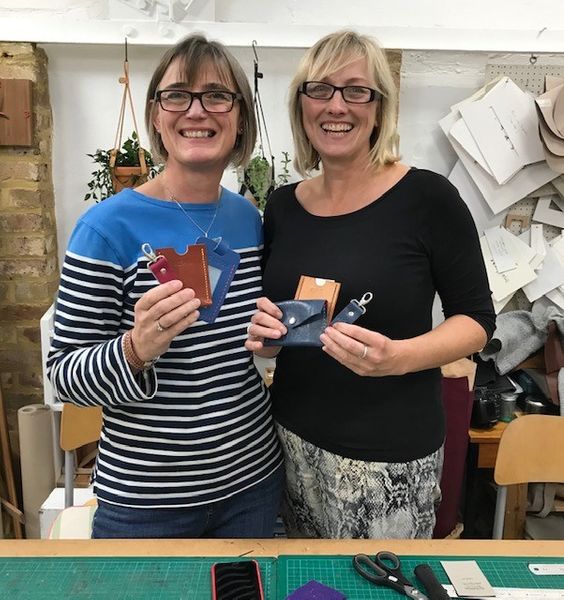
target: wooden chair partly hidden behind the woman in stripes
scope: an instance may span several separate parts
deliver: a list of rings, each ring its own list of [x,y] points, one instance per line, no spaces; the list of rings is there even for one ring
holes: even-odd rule
[[[65,508],[74,502],[75,455],[77,448],[95,442],[102,429],[102,407],[78,407],[65,403],[61,415],[61,448],[65,451]]]

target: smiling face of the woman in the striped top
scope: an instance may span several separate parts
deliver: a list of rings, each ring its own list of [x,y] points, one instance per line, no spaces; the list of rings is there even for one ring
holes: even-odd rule
[[[158,89],[237,91],[235,85],[221,77],[212,64],[202,67],[193,82],[188,84],[185,70],[178,60],[170,64]],[[240,127],[237,100],[227,113],[209,113],[197,98],[184,112],[165,111],[158,103],[153,110],[153,124],[168,152],[167,166],[176,163],[199,171],[225,169]]]

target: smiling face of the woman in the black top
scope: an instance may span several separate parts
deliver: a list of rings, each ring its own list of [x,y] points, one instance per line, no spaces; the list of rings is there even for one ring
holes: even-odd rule
[[[336,86],[376,88],[364,58],[350,62],[322,81]],[[323,163],[368,160],[370,136],[378,124],[378,102],[347,103],[336,91],[330,100],[316,100],[301,94],[301,107],[304,130]]]

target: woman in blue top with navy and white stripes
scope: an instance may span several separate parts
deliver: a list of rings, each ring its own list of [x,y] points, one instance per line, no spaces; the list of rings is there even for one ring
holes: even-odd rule
[[[271,537],[282,454],[244,346],[261,294],[261,219],[220,186],[254,148],[249,83],[225,47],[192,35],[156,68],[145,117],[165,168],[80,218],[48,359],[58,398],[103,406],[92,536]],[[221,255],[201,267],[212,307],[190,278],[159,284],[147,257],[196,242],[208,260]]]

